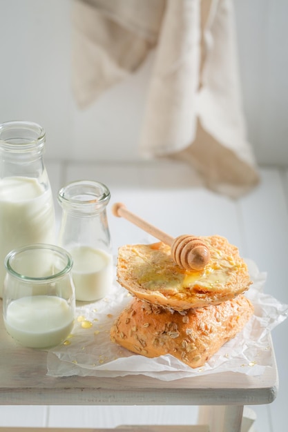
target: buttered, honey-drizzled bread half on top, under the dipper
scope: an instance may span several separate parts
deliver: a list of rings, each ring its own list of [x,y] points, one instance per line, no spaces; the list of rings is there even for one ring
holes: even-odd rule
[[[177,266],[162,242],[120,247],[119,284],[141,300],[177,311],[219,304],[246,291],[251,280],[238,248],[218,235],[199,238],[211,255],[202,271]]]

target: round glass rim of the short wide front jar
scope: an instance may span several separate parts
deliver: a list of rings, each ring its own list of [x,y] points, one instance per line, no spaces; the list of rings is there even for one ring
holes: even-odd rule
[[[40,277],[26,276],[15,271],[15,269],[12,267],[12,264],[10,264],[11,259],[15,258],[17,255],[20,255],[21,253],[24,253],[26,251],[32,251],[37,249],[46,250],[46,251],[50,250],[55,252],[58,256],[64,257],[66,259],[66,265],[64,266],[64,268],[62,268],[61,271],[58,271],[53,275],[40,276]],[[61,248],[60,246],[56,246],[55,244],[38,243],[38,244],[30,244],[28,246],[22,246],[20,248],[13,249],[8,253],[8,255],[6,255],[6,258],[4,259],[4,265],[6,267],[6,271],[8,271],[10,275],[17,277],[17,279],[21,279],[22,281],[47,282],[54,279],[58,279],[59,277],[62,277],[67,273],[69,273],[73,267],[73,258],[70,255],[70,253],[68,253],[68,251],[66,251],[64,248]]]

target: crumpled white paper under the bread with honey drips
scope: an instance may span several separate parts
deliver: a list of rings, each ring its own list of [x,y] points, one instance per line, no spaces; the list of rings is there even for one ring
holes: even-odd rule
[[[203,367],[192,369],[171,355],[147,358],[113,344],[111,325],[132,300],[131,295],[114,282],[104,299],[77,306],[73,333],[64,344],[48,351],[48,375],[119,377],[141,374],[165,381],[224,371],[261,375],[272,364],[270,332],[287,318],[288,305],[263,293],[266,273],[260,273],[250,260],[247,264],[253,285],[246,295],[255,313],[244,329]]]

